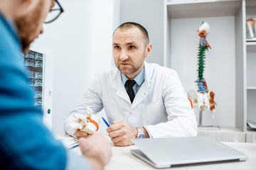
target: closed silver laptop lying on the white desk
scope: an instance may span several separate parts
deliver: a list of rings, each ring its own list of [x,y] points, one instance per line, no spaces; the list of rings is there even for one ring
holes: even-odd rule
[[[131,149],[131,153],[156,168],[247,159],[247,155],[210,137],[153,138],[132,142],[139,149]]]

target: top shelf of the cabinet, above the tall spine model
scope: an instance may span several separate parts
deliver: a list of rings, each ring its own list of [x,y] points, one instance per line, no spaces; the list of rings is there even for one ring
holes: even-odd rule
[[[240,0],[169,1],[167,10],[170,18],[235,16],[240,4]]]

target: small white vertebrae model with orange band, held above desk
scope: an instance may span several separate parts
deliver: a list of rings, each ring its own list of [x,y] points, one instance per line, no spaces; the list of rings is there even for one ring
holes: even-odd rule
[[[70,126],[75,130],[92,134],[99,129],[100,118],[98,115],[95,115],[91,108],[87,108],[85,114],[75,113],[73,120],[75,123],[71,123]]]

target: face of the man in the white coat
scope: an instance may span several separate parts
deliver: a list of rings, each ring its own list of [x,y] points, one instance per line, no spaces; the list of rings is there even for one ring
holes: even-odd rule
[[[144,42],[144,35],[139,28],[118,28],[113,35],[114,64],[129,79],[142,71],[144,59],[149,56],[149,45]]]

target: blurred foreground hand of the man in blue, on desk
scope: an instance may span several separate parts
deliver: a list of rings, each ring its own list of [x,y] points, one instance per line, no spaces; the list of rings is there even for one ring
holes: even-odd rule
[[[80,137],[79,147],[82,155],[87,159],[92,169],[104,169],[105,164],[112,157],[110,142],[102,135],[95,133]]]

